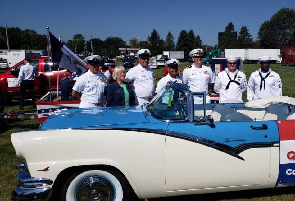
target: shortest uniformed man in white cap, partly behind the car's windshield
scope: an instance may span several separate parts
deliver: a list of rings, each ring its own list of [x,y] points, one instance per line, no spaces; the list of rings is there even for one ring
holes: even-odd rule
[[[182,80],[177,77],[179,63],[180,62],[177,59],[170,59],[166,61],[165,67],[168,67],[168,74],[159,80],[156,88],[156,94],[159,93],[159,91],[161,91],[161,89],[163,89],[169,81],[176,81],[176,83],[182,84]]]

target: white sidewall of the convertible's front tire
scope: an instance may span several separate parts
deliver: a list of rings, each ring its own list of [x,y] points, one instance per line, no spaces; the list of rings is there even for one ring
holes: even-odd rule
[[[122,185],[120,184],[119,180],[112,175],[111,173],[103,170],[89,170],[82,172],[81,174],[77,175],[69,184],[67,190],[66,190],[66,200],[67,201],[73,201],[75,200],[75,189],[77,185],[87,176],[90,175],[97,175],[97,176],[103,176],[111,181],[111,183],[114,185],[116,190],[116,198],[115,201],[121,201],[123,199],[123,189]]]

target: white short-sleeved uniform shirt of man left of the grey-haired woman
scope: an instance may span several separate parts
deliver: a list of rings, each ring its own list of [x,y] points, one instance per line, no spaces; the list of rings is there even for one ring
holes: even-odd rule
[[[103,95],[109,84],[107,77],[98,72],[93,74],[90,70],[79,77],[73,86],[73,90],[82,93],[81,101],[103,105]]]

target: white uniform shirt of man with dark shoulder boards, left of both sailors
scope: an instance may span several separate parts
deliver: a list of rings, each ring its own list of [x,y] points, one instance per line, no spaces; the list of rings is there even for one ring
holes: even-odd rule
[[[190,86],[189,90],[191,91],[206,91],[206,103],[210,103],[208,85],[214,83],[214,76],[211,68],[204,65],[202,68],[196,68],[193,63],[192,67],[184,69],[181,74],[181,79],[183,84]]]

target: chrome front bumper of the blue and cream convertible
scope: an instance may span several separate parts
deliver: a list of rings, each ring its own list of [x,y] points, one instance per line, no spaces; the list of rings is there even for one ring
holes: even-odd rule
[[[11,200],[48,200],[51,195],[50,179],[31,177],[24,163],[16,165],[19,173],[17,180],[19,184],[14,188],[11,194]]]

